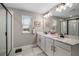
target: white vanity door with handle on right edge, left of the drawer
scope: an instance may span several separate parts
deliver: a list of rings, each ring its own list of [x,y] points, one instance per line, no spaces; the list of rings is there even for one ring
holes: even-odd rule
[[[46,50],[45,52],[49,56],[53,56],[53,40],[46,38]]]

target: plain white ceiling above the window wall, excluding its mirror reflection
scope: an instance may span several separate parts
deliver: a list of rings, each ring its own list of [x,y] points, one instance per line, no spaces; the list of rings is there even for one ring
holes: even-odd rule
[[[58,3],[4,3],[7,7],[43,14]]]

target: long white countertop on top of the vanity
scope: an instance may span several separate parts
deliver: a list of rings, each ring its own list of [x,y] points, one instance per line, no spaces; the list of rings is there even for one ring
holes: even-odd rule
[[[69,44],[69,45],[79,44],[78,38],[77,39],[75,39],[75,38],[60,38],[60,37],[53,36],[51,34],[44,34],[43,32],[38,32],[37,34],[51,38],[53,40],[61,41],[63,43]]]

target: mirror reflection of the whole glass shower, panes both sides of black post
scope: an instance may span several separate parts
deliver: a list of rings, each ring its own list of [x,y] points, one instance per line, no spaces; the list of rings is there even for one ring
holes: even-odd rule
[[[61,21],[61,33],[71,36],[79,36],[79,20],[69,19]]]

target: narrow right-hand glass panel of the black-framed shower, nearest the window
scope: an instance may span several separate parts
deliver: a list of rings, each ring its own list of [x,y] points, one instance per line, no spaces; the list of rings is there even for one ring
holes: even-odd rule
[[[12,50],[12,15],[7,12],[7,53]]]

